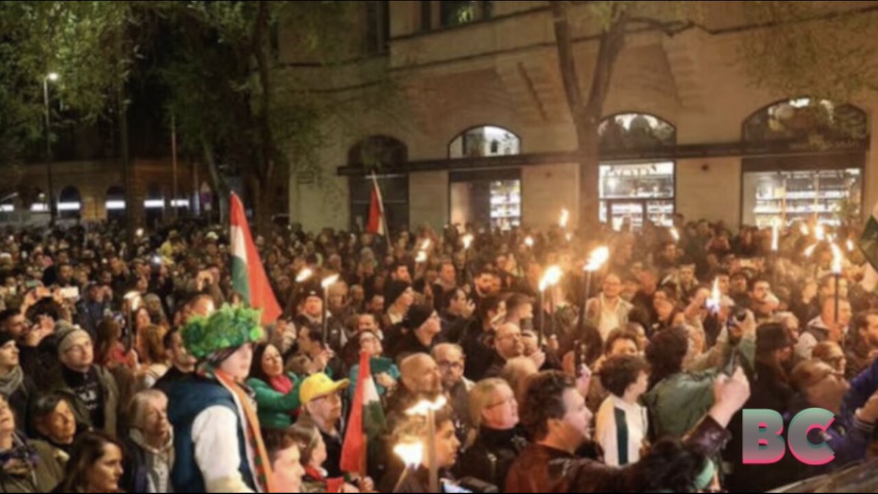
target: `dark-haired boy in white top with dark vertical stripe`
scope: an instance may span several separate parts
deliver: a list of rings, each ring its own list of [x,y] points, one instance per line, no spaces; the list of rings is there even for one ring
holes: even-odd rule
[[[598,374],[609,396],[598,410],[594,440],[609,466],[637,463],[649,432],[647,410],[637,403],[649,384],[649,364],[641,357],[620,355],[604,362]]]

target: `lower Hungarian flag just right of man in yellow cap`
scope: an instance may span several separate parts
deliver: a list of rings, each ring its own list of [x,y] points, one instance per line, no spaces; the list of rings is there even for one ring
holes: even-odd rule
[[[356,391],[351,405],[348,431],[344,435],[342,472],[366,475],[367,448],[371,440],[384,429],[384,410],[378,398],[378,388],[372,379],[371,358],[360,354],[360,369],[356,376]]]

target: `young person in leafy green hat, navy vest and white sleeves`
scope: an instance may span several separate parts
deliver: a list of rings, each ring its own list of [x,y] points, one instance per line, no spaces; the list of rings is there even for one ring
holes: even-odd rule
[[[260,312],[224,306],[183,330],[198,359],[196,374],[169,389],[177,492],[272,492],[253,393],[244,382],[253,344],[263,338]]]

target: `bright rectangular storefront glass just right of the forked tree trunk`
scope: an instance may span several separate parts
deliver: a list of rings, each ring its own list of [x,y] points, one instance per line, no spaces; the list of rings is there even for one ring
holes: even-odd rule
[[[674,163],[601,165],[601,222],[640,229],[644,219],[673,224]]]

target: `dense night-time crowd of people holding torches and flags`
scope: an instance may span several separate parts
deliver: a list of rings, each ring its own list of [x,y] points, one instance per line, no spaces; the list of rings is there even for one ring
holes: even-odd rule
[[[271,321],[221,227],[5,229],[0,489],[762,492],[867,458],[859,231],[673,223],[277,228]],[[809,408],[835,461],[741,461],[741,410]]]

